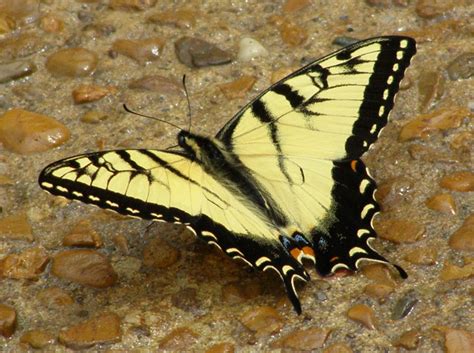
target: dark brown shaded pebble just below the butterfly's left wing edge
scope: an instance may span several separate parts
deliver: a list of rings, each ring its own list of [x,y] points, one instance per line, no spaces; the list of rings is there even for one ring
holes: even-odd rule
[[[180,258],[178,249],[160,238],[153,238],[143,250],[143,264],[152,268],[167,268]]]

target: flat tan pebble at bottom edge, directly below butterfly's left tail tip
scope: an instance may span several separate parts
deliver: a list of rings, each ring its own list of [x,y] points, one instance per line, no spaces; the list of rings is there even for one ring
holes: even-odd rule
[[[319,327],[297,329],[274,341],[272,347],[297,351],[315,350],[324,345],[330,332],[329,329]]]

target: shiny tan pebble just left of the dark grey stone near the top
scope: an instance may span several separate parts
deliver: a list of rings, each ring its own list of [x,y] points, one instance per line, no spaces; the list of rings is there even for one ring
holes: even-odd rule
[[[117,39],[112,50],[135,60],[140,65],[157,60],[163,51],[165,41],[162,38]]]

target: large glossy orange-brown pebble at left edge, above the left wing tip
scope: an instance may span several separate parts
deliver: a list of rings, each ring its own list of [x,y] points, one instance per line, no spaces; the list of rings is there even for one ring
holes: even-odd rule
[[[63,124],[46,115],[15,108],[0,116],[0,142],[12,152],[44,152],[64,144],[70,135]]]

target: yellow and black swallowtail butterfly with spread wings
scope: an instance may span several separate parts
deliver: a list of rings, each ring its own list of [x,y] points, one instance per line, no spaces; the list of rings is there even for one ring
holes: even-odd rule
[[[303,259],[320,275],[389,263],[369,244],[379,206],[362,154],[387,123],[415,41],[388,36],[329,54],[272,85],[215,137],[181,130],[179,150],[93,152],[47,166],[42,188],[121,214],[184,224],[259,270],[296,312]],[[400,275],[405,271],[394,265]]]

